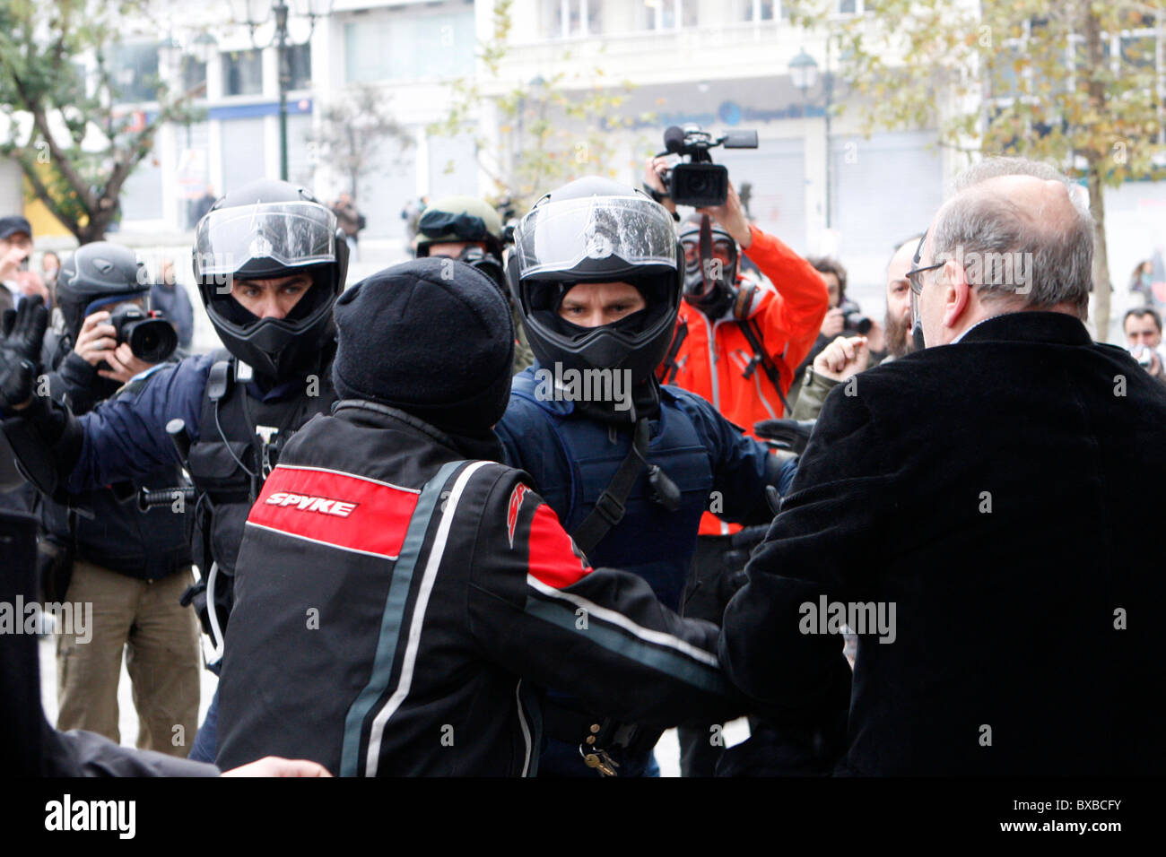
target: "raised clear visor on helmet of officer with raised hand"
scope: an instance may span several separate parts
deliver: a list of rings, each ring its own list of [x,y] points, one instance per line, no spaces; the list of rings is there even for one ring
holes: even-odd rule
[[[212,211],[198,222],[203,276],[233,274],[252,260],[282,267],[336,260],[336,215],[309,202],[257,203]]]

